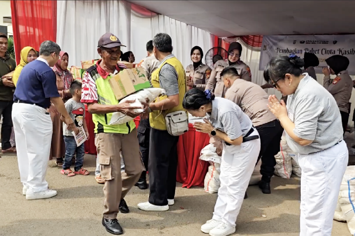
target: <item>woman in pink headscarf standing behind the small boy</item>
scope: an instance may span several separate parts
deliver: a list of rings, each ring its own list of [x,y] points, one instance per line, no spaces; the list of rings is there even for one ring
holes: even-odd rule
[[[65,103],[71,98],[69,91],[73,76],[67,69],[69,63],[68,53],[61,51],[59,53],[60,59],[54,65],[53,70],[56,75],[56,84],[60,97]],[[65,155],[65,143],[63,137],[63,122],[60,120],[60,114],[52,104],[49,108],[50,116],[53,122],[52,145],[49,155],[49,160],[56,157],[57,166],[63,165],[63,156]],[[73,160],[74,161],[74,160]]]

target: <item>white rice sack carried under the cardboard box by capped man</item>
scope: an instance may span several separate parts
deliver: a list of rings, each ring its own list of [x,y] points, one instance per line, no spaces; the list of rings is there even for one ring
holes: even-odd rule
[[[122,100],[120,100],[119,104],[123,103],[127,100],[135,100],[135,103],[132,103],[131,106],[132,107],[137,106],[137,107],[143,108],[143,105],[141,104],[141,102],[150,103],[155,98],[157,98],[159,96],[159,94],[163,94],[163,93],[165,93],[165,90],[163,90],[162,88],[144,88],[143,90],[137,91],[137,92],[131,94],[130,96],[123,98]],[[135,112],[141,113],[141,112],[143,112],[143,109],[135,109]],[[134,118],[126,116],[123,113],[114,112],[112,114],[109,125],[121,125],[121,124],[129,122],[133,119]]]

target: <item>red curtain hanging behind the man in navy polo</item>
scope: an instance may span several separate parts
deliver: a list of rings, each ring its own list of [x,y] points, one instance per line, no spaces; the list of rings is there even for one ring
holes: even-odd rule
[[[57,1],[11,1],[11,18],[17,64],[22,48],[38,51],[43,41],[56,41]]]

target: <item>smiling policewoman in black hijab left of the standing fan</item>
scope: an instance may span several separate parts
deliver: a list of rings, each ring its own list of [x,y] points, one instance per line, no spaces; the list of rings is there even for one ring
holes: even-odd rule
[[[202,63],[203,51],[201,47],[193,47],[190,56],[192,64],[186,67],[186,77],[189,78],[186,81],[186,85],[190,89],[198,88],[203,91],[206,88],[212,70],[208,65]]]

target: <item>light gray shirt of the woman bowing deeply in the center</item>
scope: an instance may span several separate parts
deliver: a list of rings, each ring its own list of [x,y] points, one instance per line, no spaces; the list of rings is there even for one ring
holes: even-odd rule
[[[212,112],[208,117],[212,126],[234,140],[245,136],[252,127],[249,117],[234,102],[216,97],[212,100]]]

